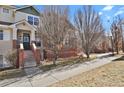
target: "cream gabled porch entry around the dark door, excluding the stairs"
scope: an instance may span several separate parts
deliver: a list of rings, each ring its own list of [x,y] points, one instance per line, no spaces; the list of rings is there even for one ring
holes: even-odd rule
[[[13,25],[13,49],[18,48],[22,43],[25,50],[30,50],[30,45],[35,42],[36,29],[27,21],[22,21]]]

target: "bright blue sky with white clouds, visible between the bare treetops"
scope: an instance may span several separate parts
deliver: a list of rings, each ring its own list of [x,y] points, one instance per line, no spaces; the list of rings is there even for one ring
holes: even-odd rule
[[[39,10],[42,11],[43,6],[36,6]],[[80,9],[81,5],[69,5],[70,10],[70,20],[73,21],[74,14],[76,10]],[[106,31],[109,31],[110,23],[113,21],[113,18],[120,16],[124,18],[124,6],[123,5],[93,5],[95,11],[97,11],[101,17],[101,21]],[[108,20],[110,22],[108,22]]]

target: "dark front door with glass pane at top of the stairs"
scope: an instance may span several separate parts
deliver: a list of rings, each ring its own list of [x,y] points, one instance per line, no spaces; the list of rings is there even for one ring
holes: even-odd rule
[[[30,34],[23,33],[23,45],[25,50],[30,49]]]

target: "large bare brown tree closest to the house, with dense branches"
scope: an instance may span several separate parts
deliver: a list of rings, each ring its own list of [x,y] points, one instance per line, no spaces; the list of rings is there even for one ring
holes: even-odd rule
[[[44,44],[53,51],[53,64],[56,64],[58,53],[63,46],[66,33],[70,29],[68,22],[68,7],[44,6],[38,32]]]

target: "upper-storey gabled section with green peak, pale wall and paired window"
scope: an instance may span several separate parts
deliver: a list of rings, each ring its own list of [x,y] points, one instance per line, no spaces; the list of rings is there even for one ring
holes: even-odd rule
[[[34,6],[23,6],[16,9],[15,22],[26,20],[31,25],[39,24],[40,12]]]

